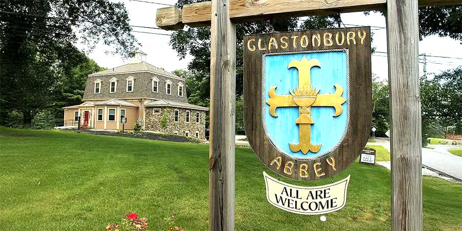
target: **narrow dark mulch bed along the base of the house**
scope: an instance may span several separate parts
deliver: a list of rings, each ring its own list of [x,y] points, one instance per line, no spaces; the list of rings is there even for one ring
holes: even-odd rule
[[[74,131],[77,129],[65,129],[65,131]],[[171,141],[171,142],[187,142],[187,143],[201,143],[200,140],[195,138],[187,138],[183,136],[176,136],[174,134],[161,134],[161,133],[152,133],[144,131],[135,131],[133,134],[128,132],[113,132],[113,131],[92,131],[84,130],[82,133],[87,134],[98,134],[103,136],[113,136],[113,137],[129,137],[129,138],[138,138],[138,139],[147,139],[147,140],[162,140],[162,141]]]

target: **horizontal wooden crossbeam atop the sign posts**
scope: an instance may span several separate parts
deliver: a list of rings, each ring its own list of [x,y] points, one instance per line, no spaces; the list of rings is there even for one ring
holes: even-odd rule
[[[460,0],[419,0],[419,6],[460,5]],[[334,13],[385,9],[386,0],[230,0],[229,17],[236,23],[278,17],[301,17]],[[167,7],[157,10],[156,24],[165,30],[210,26],[210,2],[187,4],[180,10]]]

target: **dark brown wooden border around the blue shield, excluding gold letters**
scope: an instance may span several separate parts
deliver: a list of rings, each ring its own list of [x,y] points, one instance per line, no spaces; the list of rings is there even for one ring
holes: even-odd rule
[[[347,34],[350,31],[366,31],[367,38],[364,44],[355,45],[353,43],[347,44],[345,41],[342,45],[334,44],[333,46],[325,46],[321,43],[320,46],[305,48],[298,45],[297,49],[292,46],[290,41],[287,48],[279,46],[272,50],[259,50],[250,51],[247,49],[246,44],[249,40],[258,41],[261,38],[262,44],[268,44],[271,37],[276,41],[285,36],[291,38],[292,35],[302,37],[303,34],[317,34],[321,35],[324,32],[332,33],[334,36],[336,32],[343,32]],[[323,49],[343,49],[346,48],[350,53],[350,125],[348,128],[347,137],[343,140],[340,146],[331,152],[329,155],[321,157],[317,160],[294,160],[281,154],[267,138],[264,125],[262,123],[262,55],[264,53],[272,52],[290,52],[296,50],[323,50]],[[328,178],[338,174],[343,169],[347,168],[361,153],[362,148],[367,143],[371,129],[372,121],[372,71],[371,71],[371,40],[369,27],[357,28],[342,28],[342,29],[327,29],[327,30],[310,30],[310,31],[297,31],[297,32],[283,32],[283,33],[269,33],[258,35],[244,36],[244,126],[247,139],[252,148],[256,152],[261,162],[277,174],[302,181],[314,181],[323,178]],[[298,131],[295,131],[298,132]],[[276,164],[271,165],[275,157],[281,156],[282,165],[277,168]],[[335,158],[337,170],[333,170],[327,163],[326,159],[330,157]],[[293,174],[288,175],[284,173],[284,164],[286,161],[294,161]],[[325,172],[324,176],[318,177],[313,172],[313,164],[320,162],[319,167]],[[307,164],[309,166],[309,177],[302,178],[299,176],[299,166]]]

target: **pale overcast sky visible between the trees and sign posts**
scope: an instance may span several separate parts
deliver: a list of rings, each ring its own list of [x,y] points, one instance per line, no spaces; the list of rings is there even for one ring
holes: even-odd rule
[[[156,26],[156,11],[158,8],[167,7],[165,5],[152,4],[146,2],[157,2],[163,4],[174,5],[175,0],[146,0],[145,2],[136,2],[130,0],[121,1],[125,4],[128,10],[130,25],[157,27]],[[371,12],[366,16],[362,12],[344,13],[341,14],[342,22],[347,27],[354,27],[353,25],[371,26],[374,32],[372,46],[376,51],[387,52],[387,31],[385,17],[380,13]],[[148,29],[148,28],[133,28],[134,31],[144,31],[150,33],[170,34],[170,31]],[[180,60],[178,54],[173,50],[169,43],[170,36],[159,34],[148,34],[132,32],[136,36],[139,43],[141,43],[140,50],[147,53],[146,62],[164,68],[167,71],[174,71],[177,69],[186,69],[191,56],[186,56],[185,59]],[[106,68],[121,66],[128,63],[128,60],[123,60],[122,57],[108,54],[105,51],[110,50],[105,45],[99,45],[89,53],[89,57],[93,59],[98,65]],[[419,42],[419,53],[433,56],[447,56],[462,58],[462,45],[460,41],[453,40],[450,37],[439,37],[432,35],[425,37],[424,40]],[[423,59],[420,56],[420,59]],[[446,59],[438,57],[427,57],[427,72],[441,73],[444,70],[452,69],[458,65],[462,65],[462,59]],[[422,62],[422,61],[421,61]],[[419,62],[420,73],[422,73],[424,64]],[[375,53],[372,55],[372,72],[376,74],[379,79],[388,79],[388,65],[386,53]]]

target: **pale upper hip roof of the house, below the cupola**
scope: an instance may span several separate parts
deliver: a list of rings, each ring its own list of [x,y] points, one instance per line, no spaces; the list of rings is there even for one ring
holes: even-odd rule
[[[168,71],[165,71],[163,68],[152,66],[145,61],[141,61],[139,63],[130,63],[125,64],[119,67],[110,68],[107,70],[99,71],[96,73],[89,74],[88,76],[98,76],[98,75],[106,75],[106,74],[122,74],[122,73],[129,73],[129,72],[137,72],[137,71],[150,71],[161,75],[166,75],[171,78],[184,80],[179,76],[172,74]]]

